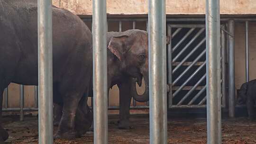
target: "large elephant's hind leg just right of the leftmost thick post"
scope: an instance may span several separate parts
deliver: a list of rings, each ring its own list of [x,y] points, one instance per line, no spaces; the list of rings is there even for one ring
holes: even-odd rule
[[[63,114],[55,134],[55,139],[71,140],[75,138],[75,114],[82,94],[74,94],[64,97]]]

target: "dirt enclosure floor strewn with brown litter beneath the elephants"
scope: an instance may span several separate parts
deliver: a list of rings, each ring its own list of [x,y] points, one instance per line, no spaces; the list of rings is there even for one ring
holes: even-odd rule
[[[149,144],[148,116],[131,116],[133,129],[117,128],[118,116],[109,118],[109,144]],[[7,144],[37,144],[37,117],[5,117],[9,132]],[[56,127],[55,127],[56,130]],[[246,118],[222,120],[223,144],[256,144],[256,122]],[[54,144],[93,144],[93,133],[73,141],[57,140]],[[168,119],[168,144],[206,144],[206,118],[172,117]]]

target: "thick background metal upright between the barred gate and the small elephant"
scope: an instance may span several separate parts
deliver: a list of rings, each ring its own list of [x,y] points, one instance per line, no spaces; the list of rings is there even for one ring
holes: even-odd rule
[[[235,117],[235,60],[234,60],[234,31],[235,21],[229,20],[228,36],[229,43],[229,117]]]

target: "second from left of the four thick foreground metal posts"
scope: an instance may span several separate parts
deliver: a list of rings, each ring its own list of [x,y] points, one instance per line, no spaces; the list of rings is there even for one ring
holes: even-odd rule
[[[94,144],[108,144],[106,0],[93,0]]]

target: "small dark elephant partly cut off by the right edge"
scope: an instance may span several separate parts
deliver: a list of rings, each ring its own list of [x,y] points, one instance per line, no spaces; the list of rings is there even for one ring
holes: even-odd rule
[[[252,80],[246,83],[243,83],[239,92],[238,92],[238,104],[247,105],[247,111],[249,119],[254,121],[256,119],[256,113],[254,105],[256,102],[256,80]]]

